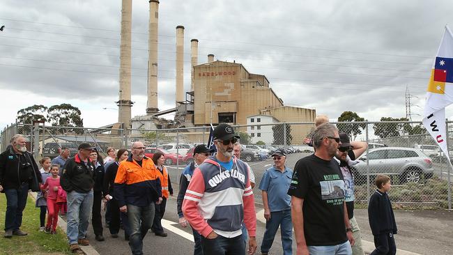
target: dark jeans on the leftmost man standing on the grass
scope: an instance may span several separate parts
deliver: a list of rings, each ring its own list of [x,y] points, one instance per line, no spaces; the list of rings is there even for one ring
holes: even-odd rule
[[[22,225],[22,212],[26,206],[26,198],[29,194],[29,184],[24,183],[19,189],[5,190],[6,215],[5,231],[17,230]]]

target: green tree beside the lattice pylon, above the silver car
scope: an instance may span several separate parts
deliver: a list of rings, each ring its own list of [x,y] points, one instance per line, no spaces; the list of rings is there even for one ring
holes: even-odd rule
[[[381,138],[400,137],[403,134],[410,134],[413,127],[409,123],[385,123],[387,121],[408,121],[407,118],[382,117],[381,123],[373,126],[374,134]]]

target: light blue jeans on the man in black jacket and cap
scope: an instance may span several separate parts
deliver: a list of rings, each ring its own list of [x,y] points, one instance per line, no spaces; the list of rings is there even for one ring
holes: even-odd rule
[[[66,201],[68,203],[66,235],[68,235],[69,245],[73,245],[77,244],[77,240],[86,237],[91,208],[93,208],[93,191],[79,193],[72,190],[72,192],[68,192]]]

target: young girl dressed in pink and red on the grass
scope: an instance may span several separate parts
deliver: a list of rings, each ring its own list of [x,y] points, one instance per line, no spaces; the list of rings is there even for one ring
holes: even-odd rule
[[[43,190],[47,190],[47,210],[49,210],[49,216],[47,217],[47,226],[45,227],[45,230],[46,232],[49,231],[51,234],[56,233],[56,223],[58,222],[58,212],[60,210],[60,203],[56,203],[58,190],[59,187],[61,187],[59,170],[59,164],[52,164],[52,167],[50,169],[52,176],[47,178],[43,185]]]

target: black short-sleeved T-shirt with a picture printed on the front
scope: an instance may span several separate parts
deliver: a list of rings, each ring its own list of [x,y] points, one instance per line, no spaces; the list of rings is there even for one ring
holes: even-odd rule
[[[304,199],[305,241],[309,246],[339,245],[348,240],[344,224],[344,180],[334,159],[316,155],[294,167],[288,194]]]

